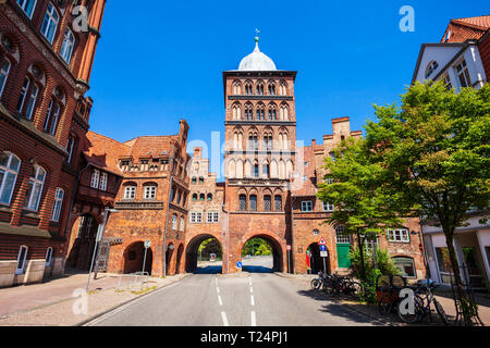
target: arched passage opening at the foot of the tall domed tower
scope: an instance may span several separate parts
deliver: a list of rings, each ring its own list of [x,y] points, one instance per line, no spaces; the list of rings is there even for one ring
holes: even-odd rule
[[[245,272],[283,272],[281,245],[267,235],[254,236],[242,247],[242,263]]]

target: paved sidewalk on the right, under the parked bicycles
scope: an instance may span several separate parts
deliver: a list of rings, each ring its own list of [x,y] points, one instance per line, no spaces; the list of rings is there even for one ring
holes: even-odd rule
[[[283,277],[294,279],[295,282],[301,283],[302,287],[305,290],[316,291],[319,295],[321,295],[322,297],[324,297],[324,299],[329,299],[329,300],[333,300],[335,302],[343,303],[343,304],[347,306],[347,308],[350,308],[351,310],[360,312],[365,315],[372,318],[373,320],[383,321],[387,324],[396,325],[396,326],[406,325],[400,321],[400,319],[396,316],[396,314],[381,315],[379,313],[378,307],[376,304],[365,304],[365,303],[355,301],[353,299],[350,299],[347,297],[338,298],[338,297],[328,296],[323,291],[313,290],[311,286],[310,286],[310,282],[313,278],[317,277],[316,275],[313,275],[313,274],[285,274],[285,273],[275,273],[275,274],[283,276]],[[441,306],[444,308],[444,311],[448,314],[449,319],[454,320],[456,318],[456,310],[454,308],[454,300],[451,298],[451,296],[449,296],[449,294],[446,294],[446,293],[443,293],[441,295],[437,295],[436,298],[441,303]],[[481,295],[476,296],[476,300],[478,302],[479,316],[480,316],[481,321],[483,322],[485,326],[489,326],[490,325],[490,306],[489,306],[490,301],[487,298],[485,298],[485,296],[481,296]],[[444,325],[434,310],[432,313],[432,321],[433,321],[432,325]],[[429,322],[429,319],[426,318],[424,320],[424,322],[421,323],[421,325],[431,325],[431,323]]]

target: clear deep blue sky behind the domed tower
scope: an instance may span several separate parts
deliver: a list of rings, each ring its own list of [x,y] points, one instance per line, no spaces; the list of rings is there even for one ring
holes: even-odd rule
[[[88,95],[91,130],[125,141],[177,132],[210,144],[224,133],[222,72],[254,49],[280,70],[297,71],[297,139],[321,142],[331,119],[352,129],[372,103],[399,101],[420,45],[438,42],[450,18],[489,14],[487,1],[150,1],[107,3]],[[403,5],[415,32],[402,33]]]

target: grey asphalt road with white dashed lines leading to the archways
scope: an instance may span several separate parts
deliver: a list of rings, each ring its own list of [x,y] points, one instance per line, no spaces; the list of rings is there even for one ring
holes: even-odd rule
[[[207,272],[208,271],[208,272]],[[216,271],[216,270],[215,270]],[[204,270],[88,323],[99,326],[357,326],[368,316],[274,273]]]

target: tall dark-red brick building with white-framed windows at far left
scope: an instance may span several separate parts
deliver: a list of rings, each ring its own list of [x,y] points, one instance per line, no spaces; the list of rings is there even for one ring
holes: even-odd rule
[[[87,10],[86,32],[76,5]],[[63,270],[105,5],[0,2],[0,286]]]

